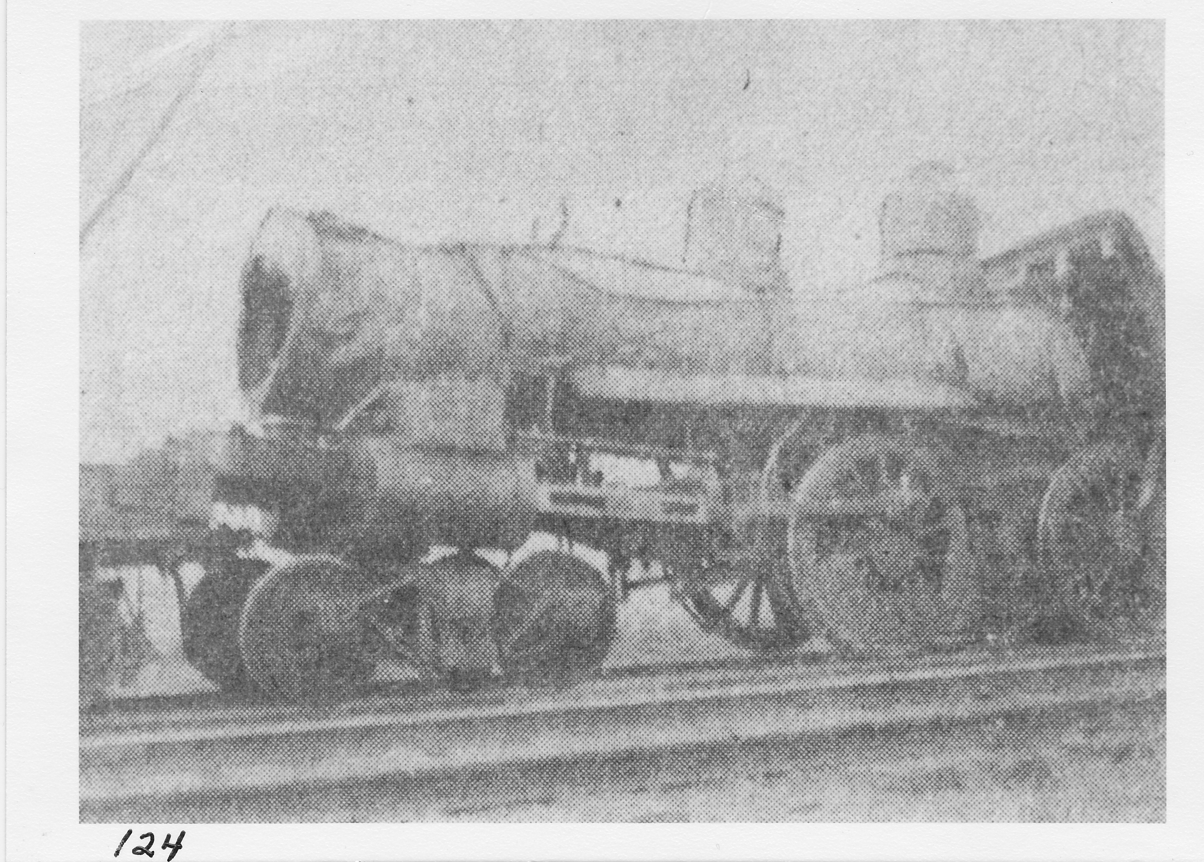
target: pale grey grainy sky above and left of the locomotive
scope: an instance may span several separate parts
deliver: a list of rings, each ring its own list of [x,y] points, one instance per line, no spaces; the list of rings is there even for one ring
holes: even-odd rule
[[[85,213],[190,54],[113,88],[195,30],[84,26]],[[805,292],[866,273],[883,195],[936,159],[979,200],[984,251],[1115,207],[1161,261],[1162,34],[1099,20],[241,25],[81,250],[81,454],[123,457],[231,415],[237,273],[275,206],[399,239],[526,242],[555,230],[565,201],[569,242],[675,262],[690,190],[748,171],[786,196],[784,254]]]

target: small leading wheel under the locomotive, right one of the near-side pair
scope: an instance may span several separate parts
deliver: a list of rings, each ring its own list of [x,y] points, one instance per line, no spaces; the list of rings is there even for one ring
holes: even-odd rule
[[[614,641],[615,598],[602,573],[562,551],[541,551],[503,572],[494,640],[503,672],[562,678],[602,664]]]

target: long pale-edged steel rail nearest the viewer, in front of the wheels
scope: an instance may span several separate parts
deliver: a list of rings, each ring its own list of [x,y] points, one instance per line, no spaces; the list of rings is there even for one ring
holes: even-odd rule
[[[1164,694],[1152,652],[727,684],[626,697],[370,714],[81,739],[89,812],[285,786],[442,775],[689,745],[890,730],[1134,702]],[[170,819],[170,818],[169,818]]]

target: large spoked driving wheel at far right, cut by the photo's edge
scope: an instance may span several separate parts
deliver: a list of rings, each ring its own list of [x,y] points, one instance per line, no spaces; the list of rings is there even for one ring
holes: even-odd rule
[[[1156,623],[1165,608],[1165,497],[1137,447],[1092,446],[1050,481],[1038,554],[1055,613],[1100,631]]]

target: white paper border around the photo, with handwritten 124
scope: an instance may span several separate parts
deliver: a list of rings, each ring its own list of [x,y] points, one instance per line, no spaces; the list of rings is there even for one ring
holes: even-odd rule
[[[200,860],[1200,858],[1204,511],[1198,441],[1204,13],[1190,2],[244,2],[12,0],[7,7],[6,814],[16,860],[107,858],[126,826],[78,822],[78,66],[83,19],[960,18],[1165,20],[1170,619],[1165,825],[188,825]],[[253,13],[248,16],[248,12]],[[137,833],[137,831],[136,831]]]

